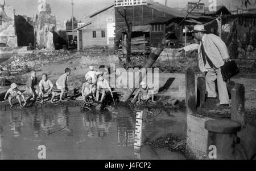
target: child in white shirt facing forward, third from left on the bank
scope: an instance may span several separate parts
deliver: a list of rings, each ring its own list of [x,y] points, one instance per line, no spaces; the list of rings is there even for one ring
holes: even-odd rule
[[[39,84],[39,97],[42,100],[41,103],[44,102],[44,95],[52,95],[51,103],[53,103],[53,98],[55,96],[55,92],[52,92],[53,84],[51,80],[48,79],[47,74],[42,74],[42,80],[40,80]]]

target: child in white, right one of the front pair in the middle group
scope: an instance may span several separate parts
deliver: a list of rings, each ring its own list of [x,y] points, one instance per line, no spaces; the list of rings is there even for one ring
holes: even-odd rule
[[[111,93],[111,96],[113,97],[113,93],[111,88],[109,87],[109,83],[106,79],[104,79],[103,75],[98,75],[98,82],[97,82],[97,92],[96,92],[96,101],[98,101],[99,97],[100,97],[100,92],[102,93],[101,95],[101,101],[104,99],[105,94],[107,92]]]

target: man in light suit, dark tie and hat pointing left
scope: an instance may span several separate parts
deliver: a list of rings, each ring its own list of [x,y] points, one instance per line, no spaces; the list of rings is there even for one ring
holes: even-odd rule
[[[195,25],[193,33],[195,39],[199,41],[200,44],[191,44],[178,50],[185,50],[187,52],[197,49],[199,54],[199,69],[207,73],[205,75],[205,81],[208,98],[216,99],[217,97],[214,83],[217,79],[220,106],[229,106],[228,89],[222,78],[220,68],[225,62],[230,61],[228,48],[220,37],[214,34],[206,34],[204,25]]]

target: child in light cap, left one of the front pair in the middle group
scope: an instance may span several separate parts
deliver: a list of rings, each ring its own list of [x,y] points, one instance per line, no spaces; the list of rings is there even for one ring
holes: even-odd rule
[[[88,76],[86,78],[86,82],[82,84],[82,97],[85,101],[88,99],[89,96],[95,97],[95,91],[96,88],[94,87],[93,79],[92,77]]]

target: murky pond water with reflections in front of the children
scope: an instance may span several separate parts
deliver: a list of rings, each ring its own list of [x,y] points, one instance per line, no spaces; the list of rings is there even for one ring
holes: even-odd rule
[[[174,109],[142,108],[143,140],[169,133],[186,136],[186,116]],[[79,107],[0,110],[0,159],[185,159],[178,152],[144,145],[134,151],[136,111],[109,106],[103,112]]]

